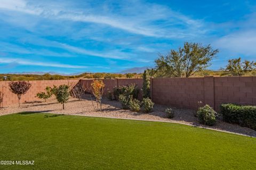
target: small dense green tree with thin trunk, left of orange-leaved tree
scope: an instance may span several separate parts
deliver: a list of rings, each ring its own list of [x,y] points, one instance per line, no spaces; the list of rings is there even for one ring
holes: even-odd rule
[[[56,99],[59,103],[62,104],[62,108],[65,109],[64,103],[67,103],[69,98],[69,86],[68,85],[60,85],[56,88]]]

